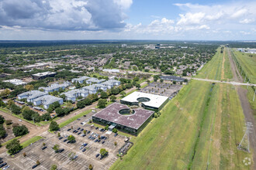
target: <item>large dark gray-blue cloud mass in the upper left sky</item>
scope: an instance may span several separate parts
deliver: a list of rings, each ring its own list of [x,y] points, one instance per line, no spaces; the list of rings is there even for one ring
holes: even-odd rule
[[[0,0],[0,23],[33,29],[104,30],[126,26],[133,0]]]

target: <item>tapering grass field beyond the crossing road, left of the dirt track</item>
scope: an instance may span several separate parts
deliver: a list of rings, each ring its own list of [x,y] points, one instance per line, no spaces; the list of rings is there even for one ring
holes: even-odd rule
[[[195,77],[225,81],[232,79],[233,76],[230,70],[230,61],[227,56],[227,49],[224,49],[223,53],[220,53],[220,48],[217,49],[213,59],[206,63]]]

